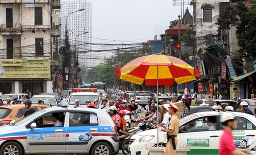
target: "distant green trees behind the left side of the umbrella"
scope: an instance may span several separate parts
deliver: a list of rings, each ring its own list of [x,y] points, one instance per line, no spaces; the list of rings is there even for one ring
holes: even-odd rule
[[[131,52],[131,51],[119,51],[113,57],[112,60],[108,60],[104,65],[98,65],[88,70],[88,76],[86,78],[86,83],[92,83],[95,81],[104,82],[106,85],[122,85],[130,88],[130,83],[127,81],[122,81],[119,77],[116,77],[116,65],[119,68],[123,67],[126,63],[132,61],[135,58],[142,56],[142,51]]]

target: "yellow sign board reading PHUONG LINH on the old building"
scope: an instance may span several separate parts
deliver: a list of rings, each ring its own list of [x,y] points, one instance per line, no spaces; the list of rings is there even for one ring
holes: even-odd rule
[[[50,59],[0,59],[0,78],[51,78]]]

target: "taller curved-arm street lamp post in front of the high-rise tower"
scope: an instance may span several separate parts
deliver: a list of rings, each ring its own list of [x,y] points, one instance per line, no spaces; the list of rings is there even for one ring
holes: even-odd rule
[[[62,71],[62,75],[63,75],[63,83],[62,83],[62,90],[68,90],[68,88],[70,87],[70,79],[69,79],[69,75],[70,75],[70,45],[69,45],[69,37],[68,37],[68,26],[67,26],[67,19],[69,17],[70,14],[78,12],[78,11],[83,11],[84,9],[79,9],[77,11],[71,12],[67,15],[66,17],[66,26],[65,26],[65,50],[66,52],[64,53],[64,59],[63,59],[63,71]]]

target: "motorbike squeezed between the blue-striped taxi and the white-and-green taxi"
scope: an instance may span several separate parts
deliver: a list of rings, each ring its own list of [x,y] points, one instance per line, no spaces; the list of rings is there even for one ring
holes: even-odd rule
[[[138,120],[138,121],[136,121],[134,126],[136,126],[138,128],[134,131],[133,135],[135,135],[139,132],[148,130],[148,129],[152,129],[153,124],[151,122],[147,122],[145,120]],[[122,150],[122,153],[124,155],[129,155],[130,154],[130,152],[129,152],[129,143],[130,143],[131,137],[132,136],[129,135],[122,142],[121,150]]]

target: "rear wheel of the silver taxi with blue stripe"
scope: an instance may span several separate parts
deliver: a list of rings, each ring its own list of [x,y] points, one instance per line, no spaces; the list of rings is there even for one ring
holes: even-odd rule
[[[108,143],[99,142],[92,148],[92,155],[111,155],[112,149]]]

